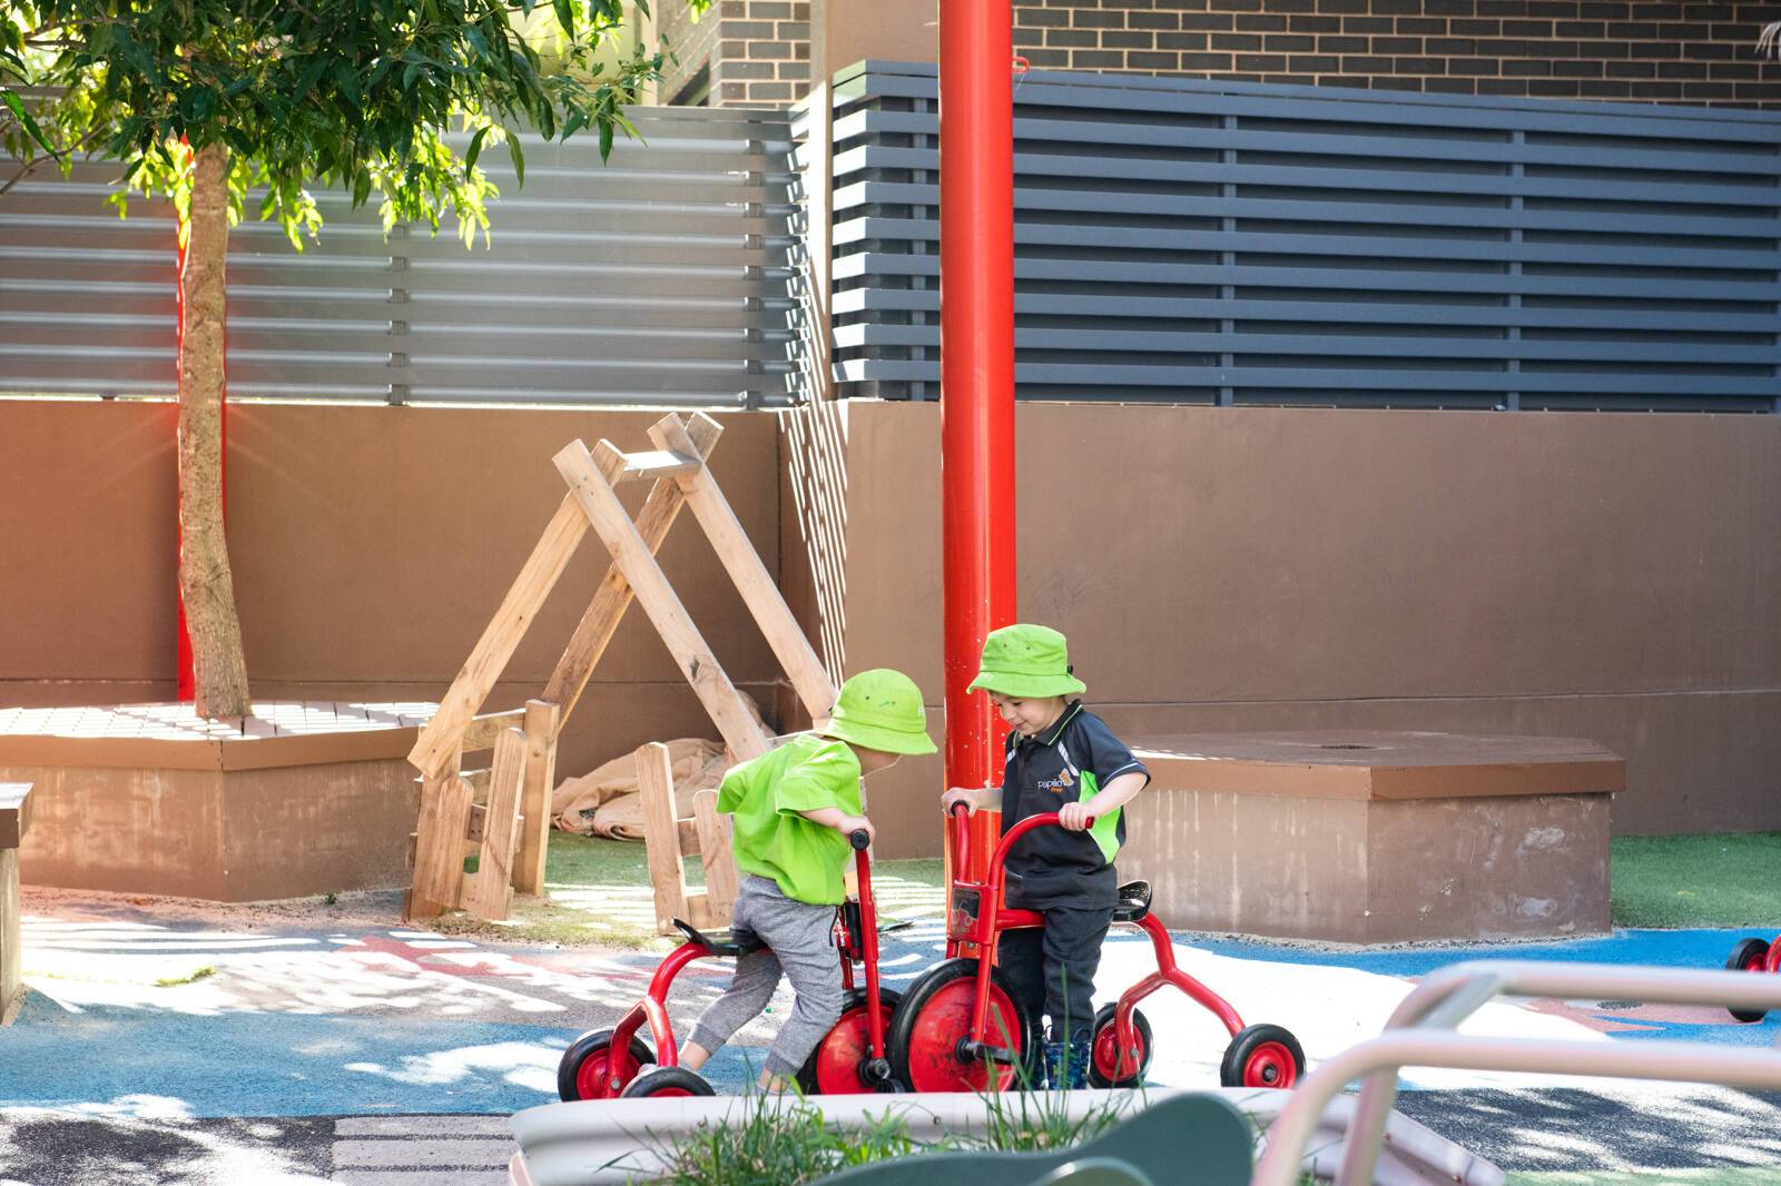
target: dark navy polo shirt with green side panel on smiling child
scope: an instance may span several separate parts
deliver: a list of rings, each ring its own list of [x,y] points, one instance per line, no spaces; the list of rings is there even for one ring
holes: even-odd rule
[[[1037,737],[1008,734],[1003,766],[1003,832],[1028,816],[1095,798],[1102,787],[1151,771],[1108,723],[1072,700],[1063,716]],[[1086,832],[1035,828],[1008,853],[1008,905],[1044,910],[1058,905],[1115,906],[1118,880],[1113,858],[1126,842],[1126,810],[1095,819]]]

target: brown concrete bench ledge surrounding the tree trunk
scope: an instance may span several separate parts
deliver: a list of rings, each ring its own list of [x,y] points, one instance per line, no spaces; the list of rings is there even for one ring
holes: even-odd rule
[[[0,709],[0,782],[36,784],[32,885],[212,901],[408,883],[431,703]]]

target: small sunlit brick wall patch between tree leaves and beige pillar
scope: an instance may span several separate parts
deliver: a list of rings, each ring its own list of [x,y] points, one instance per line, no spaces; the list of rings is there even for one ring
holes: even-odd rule
[[[712,107],[787,107],[810,89],[810,0],[718,0],[696,25],[684,5],[661,4],[680,59],[663,69],[666,102],[680,102],[700,69],[711,71]]]

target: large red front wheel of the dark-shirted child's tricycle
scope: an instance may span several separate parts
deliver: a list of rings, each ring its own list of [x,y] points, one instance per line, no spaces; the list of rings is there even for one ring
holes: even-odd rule
[[[1013,1052],[1015,1063],[962,1058],[960,1044],[971,1036],[976,1004],[978,962],[946,960],[923,972],[890,1019],[890,1076],[910,1092],[1008,1090],[1022,1068],[1031,1079],[1033,1022],[1015,1003],[1008,978],[990,969],[990,1015],[985,1042]]]

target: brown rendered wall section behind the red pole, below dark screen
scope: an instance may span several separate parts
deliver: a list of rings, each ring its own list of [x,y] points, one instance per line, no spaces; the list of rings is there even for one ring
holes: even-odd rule
[[[848,671],[908,670],[939,725],[939,406],[825,415],[844,429],[800,426],[807,463],[787,433],[787,465],[839,475],[800,497],[841,502],[846,554],[816,547],[812,575],[787,481],[784,586]],[[1017,424],[1021,616],[1070,636],[1120,732],[1590,737],[1628,760],[1617,833],[1781,826],[1781,418],[1022,404]],[[874,782],[887,855],[935,849],[939,785],[937,759]]]

